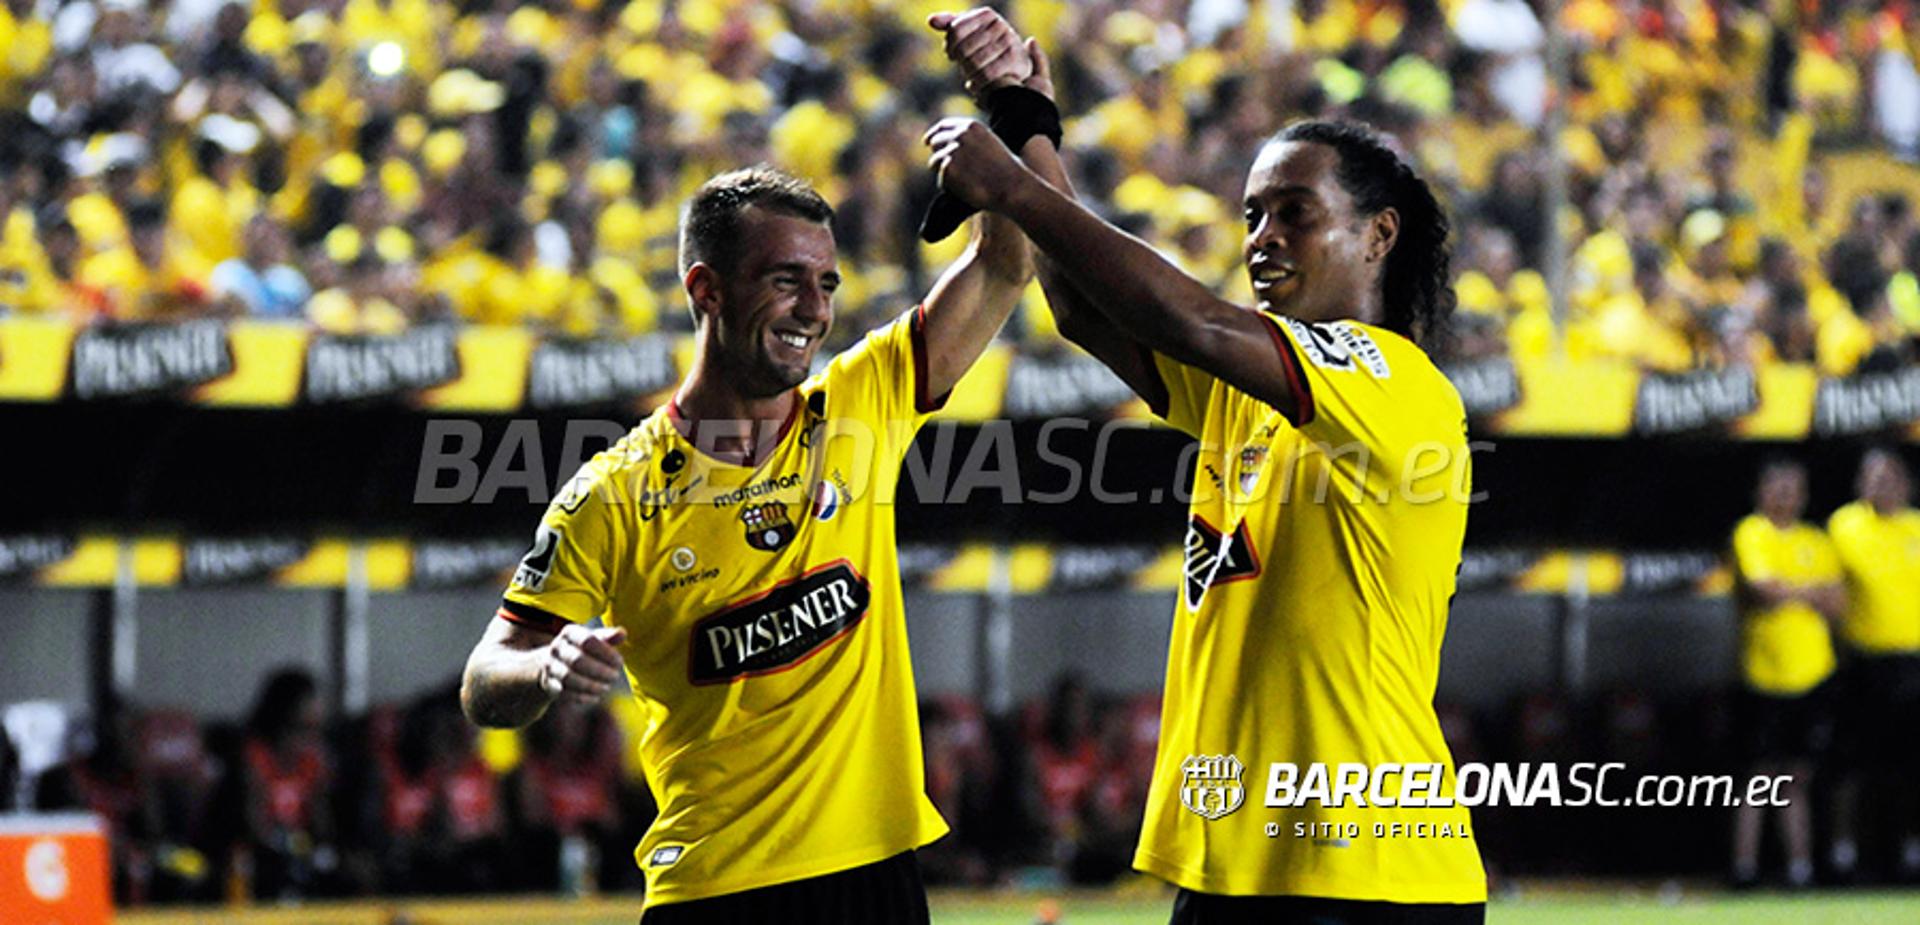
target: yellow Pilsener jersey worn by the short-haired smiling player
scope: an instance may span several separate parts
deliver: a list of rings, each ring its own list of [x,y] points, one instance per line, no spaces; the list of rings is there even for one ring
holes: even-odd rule
[[[872,864],[939,839],[925,796],[893,495],[937,407],[920,311],[799,386],[758,466],[657,411],[547,509],[501,616],[605,620],[645,712],[660,816],[647,904]]]

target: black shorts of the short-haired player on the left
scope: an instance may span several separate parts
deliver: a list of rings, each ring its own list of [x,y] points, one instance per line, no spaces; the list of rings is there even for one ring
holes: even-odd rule
[[[639,917],[639,925],[927,925],[927,887],[920,881],[920,858],[914,852],[804,881],[668,902]]]

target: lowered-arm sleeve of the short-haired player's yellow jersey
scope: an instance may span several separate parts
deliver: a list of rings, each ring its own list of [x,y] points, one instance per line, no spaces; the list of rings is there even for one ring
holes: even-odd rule
[[[499,616],[557,631],[607,612],[620,580],[626,530],[618,484],[599,459],[589,461],[547,505],[534,547],[513,572]]]

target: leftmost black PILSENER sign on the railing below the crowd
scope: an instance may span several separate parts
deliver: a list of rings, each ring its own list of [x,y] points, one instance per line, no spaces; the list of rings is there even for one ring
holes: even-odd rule
[[[232,370],[227,326],[217,320],[106,324],[73,340],[73,395],[81,399],[177,391]]]

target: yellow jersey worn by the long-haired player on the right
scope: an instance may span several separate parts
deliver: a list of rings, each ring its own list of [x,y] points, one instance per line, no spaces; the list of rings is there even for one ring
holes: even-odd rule
[[[1400,334],[1261,317],[1294,409],[1156,355],[1164,416],[1200,443],[1135,867],[1210,894],[1484,902],[1467,808],[1304,798],[1311,766],[1357,762],[1452,802],[1432,697],[1471,491],[1459,393]],[[1302,800],[1269,800],[1283,766]]]

